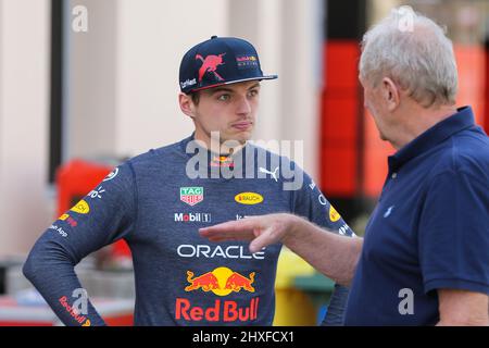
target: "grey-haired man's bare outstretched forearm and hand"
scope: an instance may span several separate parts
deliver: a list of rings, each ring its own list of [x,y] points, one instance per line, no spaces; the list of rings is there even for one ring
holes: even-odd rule
[[[226,222],[201,228],[200,234],[212,241],[251,240],[250,252],[283,243],[317,271],[335,282],[350,285],[363,239],[327,232],[302,217],[271,214]]]

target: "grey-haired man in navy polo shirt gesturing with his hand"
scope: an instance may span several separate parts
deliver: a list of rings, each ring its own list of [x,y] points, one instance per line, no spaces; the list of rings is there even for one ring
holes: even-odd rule
[[[398,150],[363,239],[290,214],[201,234],[252,240],[253,252],[283,241],[351,286],[347,325],[488,325],[489,138],[469,107],[455,108],[452,42],[431,20],[393,11],[364,37],[360,80]]]

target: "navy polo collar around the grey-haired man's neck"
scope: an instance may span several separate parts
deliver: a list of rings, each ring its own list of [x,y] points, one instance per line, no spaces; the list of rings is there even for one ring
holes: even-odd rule
[[[475,125],[474,112],[471,107],[461,108],[457,113],[436,124],[413,141],[389,157],[389,169],[397,171],[413,158],[427,152],[455,133]]]

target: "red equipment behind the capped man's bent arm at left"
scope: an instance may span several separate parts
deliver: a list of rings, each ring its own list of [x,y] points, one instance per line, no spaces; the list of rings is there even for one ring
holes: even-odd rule
[[[73,160],[57,171],[58,216],[65,213],[92,190],[112,171],[112,166]],[[111,246],[113,257],[130,257],[130,250],[124,240]]]

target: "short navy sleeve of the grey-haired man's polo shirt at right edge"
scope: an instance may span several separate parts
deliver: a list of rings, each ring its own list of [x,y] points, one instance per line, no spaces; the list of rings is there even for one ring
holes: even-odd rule
[[[425,291],[489,294],[489,181],[463,171],[429,184],[418,227]]]

